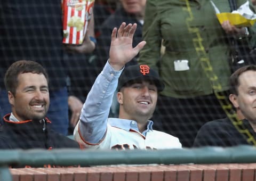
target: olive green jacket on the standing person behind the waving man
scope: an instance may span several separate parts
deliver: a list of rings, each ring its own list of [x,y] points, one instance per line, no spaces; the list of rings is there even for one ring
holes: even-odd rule
[[[220,12],[230,12],[228,1],[213,2]],[[238,7],[245,2],[238,0]],[[147,0],[143,39],[139,63],[158,70],[162,95],[189,98],[211,94],[213,86],[217,92],[228,89],[228,38],[209,0]],[[189,69],[175,71],[177,60],[188,60]]]

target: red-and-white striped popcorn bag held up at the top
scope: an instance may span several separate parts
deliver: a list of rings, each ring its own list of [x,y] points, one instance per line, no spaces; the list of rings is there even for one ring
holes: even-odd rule
[[[63,41],[64,44],[83,43],[90,23],[94,0],[63,0]]]

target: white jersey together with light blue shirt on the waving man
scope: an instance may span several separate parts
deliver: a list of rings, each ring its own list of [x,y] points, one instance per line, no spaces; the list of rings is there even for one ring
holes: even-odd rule
[[[83,105],[74,138],[85,147],[99,149],[173,149],[181,148],[177,137],[153,130],[153,121],[140,133],[133,120],[109,118],[113,94],[121,71],[109,63],[95,80]]]

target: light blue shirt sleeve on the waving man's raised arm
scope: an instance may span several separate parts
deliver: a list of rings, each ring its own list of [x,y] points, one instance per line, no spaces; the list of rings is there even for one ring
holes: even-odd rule
[[[113,95],[122,71],[123,69],[115,71],[107,62],[95,80],[83,105],[79,121],[79,133],[84,141],[97,144],[104,137]]]

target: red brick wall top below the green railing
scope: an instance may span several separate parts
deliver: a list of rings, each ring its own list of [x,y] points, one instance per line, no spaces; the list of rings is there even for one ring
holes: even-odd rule
[[[10,169],[13,181],[250,181],[256,163]]]

